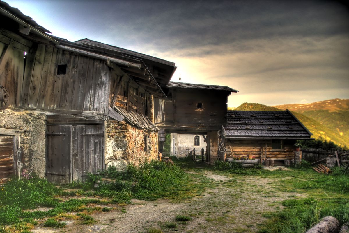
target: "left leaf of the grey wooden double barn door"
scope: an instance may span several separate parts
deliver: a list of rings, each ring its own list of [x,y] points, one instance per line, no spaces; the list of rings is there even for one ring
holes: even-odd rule
[[[46,176],[52,183],[72,180],[72,126],[47,126]]]

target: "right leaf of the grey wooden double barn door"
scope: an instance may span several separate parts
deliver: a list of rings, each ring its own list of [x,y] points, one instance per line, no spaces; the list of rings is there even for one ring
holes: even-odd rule
[[[73,126],[73,139],[73,180],[85,181],[104,168],[103,125]]]

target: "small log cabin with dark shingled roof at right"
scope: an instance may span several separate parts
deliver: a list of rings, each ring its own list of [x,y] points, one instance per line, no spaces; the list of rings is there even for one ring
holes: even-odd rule
[[[221,142],[227,159],[273,160],[284,165],[293,160],[297,139],[311,139],[311,132],[290,111],[228,111]]]

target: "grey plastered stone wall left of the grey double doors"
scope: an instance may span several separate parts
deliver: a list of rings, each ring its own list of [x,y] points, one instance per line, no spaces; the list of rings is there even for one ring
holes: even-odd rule
[[[19,169],[30,169],[39,177],[46,170],[46,115],[8,108],[0,110],[0,128],[24,130],[20,134]]]

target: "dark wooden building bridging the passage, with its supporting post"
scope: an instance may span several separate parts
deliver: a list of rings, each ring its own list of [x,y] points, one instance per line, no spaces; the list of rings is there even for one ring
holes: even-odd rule
[[[164,123],[157,126],[176,134],[203,135],[207,162],[216,161],[218,130],[225,123],[228,96],[238,91],[226,86],[172,81],[166,91]]]

